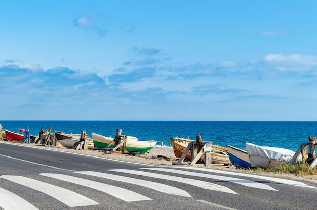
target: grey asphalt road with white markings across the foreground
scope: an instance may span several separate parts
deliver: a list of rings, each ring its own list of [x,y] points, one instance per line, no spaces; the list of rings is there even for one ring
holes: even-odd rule
[[[5,210],[316,209],[317,186],[0,143],[0,198]]]

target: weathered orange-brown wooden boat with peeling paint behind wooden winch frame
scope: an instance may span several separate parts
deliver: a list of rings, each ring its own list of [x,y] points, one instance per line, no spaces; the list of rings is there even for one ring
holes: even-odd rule
[[[182,154],[184,153],[188,144],[193,141],[193,140],[190,140],[188,138],[178,138],[178,137],[174,137],[174,138],[170,138],[170,139],[172,141],[174,154],[177,158],[180,158],[182,156]],[[212,144],[212,142],[209,142],[209,143]],[[212,152],[211,152],[212,163],[216,162],[216,163],[224,164],[226,166],[231,165],[231,161],[230,161],[229,156],[227,154],[226,148],[212,144],[211,149],[212,149]],[[202,158],[203,157],[204,157],[204,155],[202,156]],[[190,160],[190,151],[186,155],[185,159]]]

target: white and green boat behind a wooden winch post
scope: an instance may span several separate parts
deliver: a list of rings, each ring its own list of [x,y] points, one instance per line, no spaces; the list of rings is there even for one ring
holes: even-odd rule
[[[92,138],[94,141],[94,146],[96,149],[102,149],[108,146],[113,141],[113,138],[99,135],[97,133],[92,133]],[[146,154],[146,152],[152,149],[156,144],[156,141],[138,141],[137,137],[127,136],[127,146],[128,152],[138,151],[140,154]],[[114,144],[110,145],[109,148],[114,148]],[[123,149],[123,147],[121,147]]]

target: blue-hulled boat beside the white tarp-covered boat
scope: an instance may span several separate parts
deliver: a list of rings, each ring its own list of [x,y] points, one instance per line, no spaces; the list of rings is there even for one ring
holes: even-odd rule
[[[249,154],[242,149],[226,145],[231,163],[237,168],[251,168]]]

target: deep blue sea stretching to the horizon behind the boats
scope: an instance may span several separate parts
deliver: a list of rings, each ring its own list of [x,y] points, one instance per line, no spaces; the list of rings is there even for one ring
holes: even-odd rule
[[[43,127],[65,133],[98,133],[104,136],[116,134],[136,136],[142,140],[156,140],[156,145],[172,146],[169,137],[196,139],[199,133],[203,141],[215,145],[240,146],[250,142],[260,146],[281,147],[296,151],[301,143],[308,143],[309,136],[317,136],[317,122],[262,122],[262,121],[0,121],[3,130],[17,132],[19,128],[30,128],[38,135]]]

